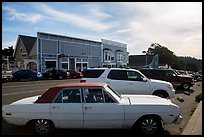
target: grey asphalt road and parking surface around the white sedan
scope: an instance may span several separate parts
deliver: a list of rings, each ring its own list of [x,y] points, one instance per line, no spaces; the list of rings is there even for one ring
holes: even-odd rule
[[[2,105],[12,103],[16,100],[39,95],[46,91],[49,87],[63,84],[79,82],[80,79],[66,79],[66,80],[43,80],[43,81],[30,81],[30,82],[8,82],[2,83]],[[181,89],[176,89],[175,97],[171,99],[172,102],[180,107],[183,121],[181,124],[164,125],[164,129],[161,135],[180,135],[186,126],[188,120],[193,114],[196,106],[195,96],[202,92],[202,82],[197,82],[190,90],[190,95],[184,94]],[[181,96],[184,102],[177,100],[177,97]],[[54,134],[56,135],[127,135],[129,130],[78,130],[78,129],[56,129]],[[32,132],[24,126],[14,126],[6,123],[2,119],[2,135],[31,135]],[[134,131],[133,133],[134,134]]]

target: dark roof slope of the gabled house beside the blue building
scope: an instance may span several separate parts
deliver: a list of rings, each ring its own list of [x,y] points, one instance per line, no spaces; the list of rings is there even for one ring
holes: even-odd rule
[[[21,39],[25,49],[26,49],[26,52],[28,54],[30,54],[36,40],[37,40],[37,37],[31,37],[31,36],[24,36],[24,35],[19,35],[19,38]]]

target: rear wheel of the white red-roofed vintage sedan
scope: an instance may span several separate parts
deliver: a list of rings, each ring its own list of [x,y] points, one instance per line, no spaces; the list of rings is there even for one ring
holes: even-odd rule
[[[50,135],[54,130],[54,126],[51,121],[46,119],[38,119],[33,122],[35,133],[39,135]]]

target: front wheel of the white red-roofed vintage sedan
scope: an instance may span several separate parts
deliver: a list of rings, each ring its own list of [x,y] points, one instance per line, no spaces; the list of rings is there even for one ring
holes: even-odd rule
[[[155,116],[147,116],[139,120],[138,128],[144,135],[156,135],[161,130],[162,123]]]

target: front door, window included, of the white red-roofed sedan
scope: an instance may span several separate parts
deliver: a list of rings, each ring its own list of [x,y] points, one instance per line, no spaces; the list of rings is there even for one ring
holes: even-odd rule
[[[84,128],[121,128],[124,106],[115,102],[102,88],[84,89]]]

